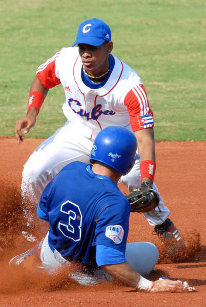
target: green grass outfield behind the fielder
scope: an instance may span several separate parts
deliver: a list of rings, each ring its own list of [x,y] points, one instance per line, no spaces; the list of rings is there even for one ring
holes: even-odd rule
[[[38,65],[75,40],[79,23],[111,27],[113,54],[136,69],[155,114],[156,140],[206,140],[206,2],[200,0],[0,0],[0,135],[26,113]],[[61,86],[49,91],[27,137],[64,124]]]

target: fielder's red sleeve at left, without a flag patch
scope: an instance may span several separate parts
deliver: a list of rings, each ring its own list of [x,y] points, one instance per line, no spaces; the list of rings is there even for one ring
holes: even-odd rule
[[[59,52],[57,52],[52,58],[48,59],[44,64],[40,65],[36,71],[36,77],[47,89],[60,84],[60,80],[56,77],[56,58]]]

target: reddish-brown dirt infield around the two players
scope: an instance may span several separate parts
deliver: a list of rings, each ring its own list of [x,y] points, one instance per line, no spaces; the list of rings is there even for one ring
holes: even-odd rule
[[[23,165],[42,140],[27,139],[20,146],[12,138],[0,138],[0,306],[205,306],[206,305],[206,232],[205,232],[205,165],[206,142],[156,143],[156,184],[171,209],[171,218],[190,246],[187,262],[158,264],[151,276],[161,275],[187,280],[196,287],[193,293],[138,293],[132,288],[108,283],[80,287],[67,282],[64,274],[50,278],[28,269],[11,268],[8,259],[33,246],[25,242],[20,204],[20,181]],[[125,190],[123,190],[125,191]],[[148,240],[160,248],[142,215],[132,213],[129,242]],[[201,250],[193,254],[198,245]],[[178,258],[175,259],[178,261]]]

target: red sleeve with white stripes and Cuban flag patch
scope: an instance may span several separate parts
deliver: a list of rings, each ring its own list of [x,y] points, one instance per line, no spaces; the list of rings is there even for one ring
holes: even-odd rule
[[[143,84],[134,86],[126,95],[124,102],[128,108],[133,131],[154,126],[154,115]]]

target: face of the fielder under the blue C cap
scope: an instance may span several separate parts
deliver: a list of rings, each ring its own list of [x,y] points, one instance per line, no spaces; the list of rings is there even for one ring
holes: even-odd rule
[[[108,70],[112,41],[104,42],[100,46],[79,43],[78,48],[83,67],[89,75],[99,76]]]

